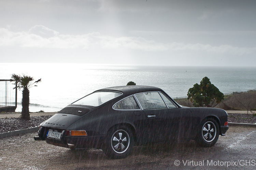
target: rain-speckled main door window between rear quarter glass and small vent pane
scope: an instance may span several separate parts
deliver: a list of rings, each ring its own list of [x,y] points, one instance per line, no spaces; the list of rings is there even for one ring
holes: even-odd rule
[[[143,109],[167,108],[158,92],[146,92],[135,95]]]

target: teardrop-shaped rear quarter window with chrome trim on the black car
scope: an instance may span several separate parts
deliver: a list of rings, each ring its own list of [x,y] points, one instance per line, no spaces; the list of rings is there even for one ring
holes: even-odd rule
[[[133,110],[133,109],[140,109],[140,106],[135,101],[134,97],[130,96],[116,103],[113,106],[113,108],[118,110]]]

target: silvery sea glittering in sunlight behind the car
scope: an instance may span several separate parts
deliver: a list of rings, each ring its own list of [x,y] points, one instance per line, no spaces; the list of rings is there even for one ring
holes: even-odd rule
[[[57,112],[95,90],[130,81],[159,87],[172,98],[185,97],[204,77],[223,93],[256,88],[256,67],[0,63],[0,79],[11,79],[13,73],[41,79],[29,89],[30,112]],[[22,90],[18,90],[16,112],[22,110],[21,100]]]

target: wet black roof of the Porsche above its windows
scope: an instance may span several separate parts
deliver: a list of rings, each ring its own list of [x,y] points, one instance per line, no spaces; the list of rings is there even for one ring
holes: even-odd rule
[[[162,91],[162,89],[158,87],[152,87],[152,86],[137,86],[137,85],[131,85],[131,86],[116,86],[116,87],[108,87],[103,88],[97,91],[101,90],[113,90],[113,91],[120,91],[125,96],[129,94],[139,93],[139,92],[145,92],[145,91]]]

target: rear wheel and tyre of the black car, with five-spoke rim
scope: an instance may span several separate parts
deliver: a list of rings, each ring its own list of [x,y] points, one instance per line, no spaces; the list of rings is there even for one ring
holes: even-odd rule
[[[116,127],[108,132],[103,152],[113,159],[126,157],[132,150],[134,137],[129,128]]]

